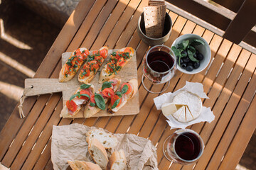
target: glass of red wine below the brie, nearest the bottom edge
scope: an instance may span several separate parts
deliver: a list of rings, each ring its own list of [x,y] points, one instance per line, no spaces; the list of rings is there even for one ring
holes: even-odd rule
[[[166,159],[178,164],[192,164],[203,154],[203,140],[197,132],[190,129],[176,130],[166,138],[163,152]]]

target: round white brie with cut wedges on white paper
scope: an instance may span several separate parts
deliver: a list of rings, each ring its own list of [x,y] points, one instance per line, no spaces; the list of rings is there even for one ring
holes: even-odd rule
[[[202,101],[199,96],[188,91],[181,91],[181,93],[174,96],[173,103],[175,105],[183,105],[176,112],[172,113],[174,118],[180,122],[189,122],[198,118],[202,109]],[[178,115],[180,114],[180,115]]]

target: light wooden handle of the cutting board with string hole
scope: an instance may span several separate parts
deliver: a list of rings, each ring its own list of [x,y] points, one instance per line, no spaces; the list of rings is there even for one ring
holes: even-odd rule
[[[63,91],[65,84],[58,79],[25,79],[25,89],[26,96],[36,96]]]

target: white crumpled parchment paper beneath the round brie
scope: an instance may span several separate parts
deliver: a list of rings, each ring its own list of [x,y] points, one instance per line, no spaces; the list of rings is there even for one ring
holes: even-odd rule
[[[203,92],[203,84],[191,83],[186,81],[186,85],[183,86],[183,88],[178,89],[177,91],[174,91],[174,93],[169,92],[154,98],[154,103],[156,105],[157,110],[161,110],[161,106],[163,106],[165,103],[171,103],[174,99],[174,96],[176,96],[176,94],[180,93],[181,91],[189,91],[193,94],[198,95],[201,98],[208,98],[208,96],[206,96],[206,94]],[[201,114],[198,116],[198,118],[188,123],[181,123],[178,120],[176,120],[176,118],[174,118],[172,115],[166,116],[166,118],[168,119],[166,120],[166,122],[169,124],[169,126],[171,126],[171,129],[175,129],[175,128],[185,129],[189,125],[193,125],[195,123],[200,123],[200,122],[211,123],[214,120],[215,116],[213,112],[210,111],[210,107],[206,108],[205,106],[203,106]]]

